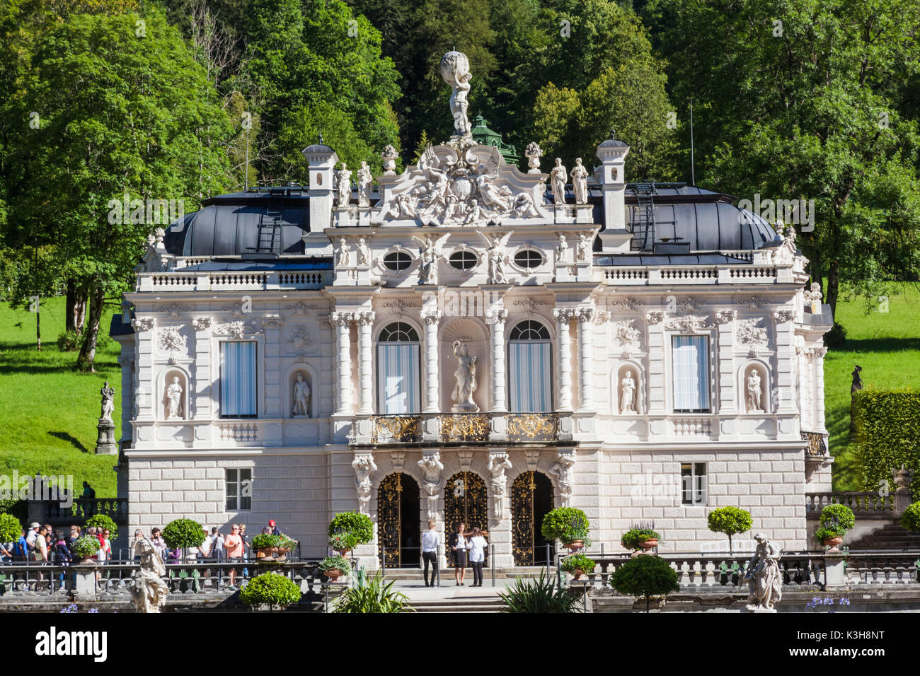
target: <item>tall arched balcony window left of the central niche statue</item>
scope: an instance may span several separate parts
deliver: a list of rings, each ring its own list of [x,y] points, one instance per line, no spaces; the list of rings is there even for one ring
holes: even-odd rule
[[[419,334],[405,322],[377,338],[377,408],[382,415],[419,412]]]

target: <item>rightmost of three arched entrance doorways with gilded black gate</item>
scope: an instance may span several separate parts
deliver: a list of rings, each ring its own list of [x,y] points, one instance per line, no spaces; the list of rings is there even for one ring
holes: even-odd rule
[[[523,472],[512,484],[512,554],[515,566],[545,566],[546,538],[540,526],[553,509],[553,483],[540,472]],[[549,543],[553,556],[553,543]]]

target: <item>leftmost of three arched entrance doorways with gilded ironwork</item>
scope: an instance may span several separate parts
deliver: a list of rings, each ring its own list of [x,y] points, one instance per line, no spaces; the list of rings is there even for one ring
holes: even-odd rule
[[[386,475],[377,489],[378,556],[388,568],[419,567],[419,482],[407,474]]]

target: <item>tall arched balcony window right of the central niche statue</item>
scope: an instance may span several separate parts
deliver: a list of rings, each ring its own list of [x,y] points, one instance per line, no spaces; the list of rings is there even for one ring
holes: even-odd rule
[[[551,342],[545,326],[528,319],[516,324],[508,338],[508,378],[512,413],[552,410]]]

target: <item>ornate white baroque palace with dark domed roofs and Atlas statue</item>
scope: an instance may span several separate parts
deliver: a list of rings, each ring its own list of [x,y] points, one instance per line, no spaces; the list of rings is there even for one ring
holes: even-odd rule
[[[456,133],[418,166],[387,147],[351,189],[311,145],[308,187],[214,197],[151,239],[112,327],[131,528],[272,518],[316,556],[362,510],[374,567],[463,520],[512,566],[545,559],[553,507],[609,550],[654,521],[662,550],[698,552],[724,540],[707,511],[737,505],[803,547],[805,493],[830,490],[831,317],[794,229],[627,184],[614,138],[574,189],[535,143],[524,173],[470,134],[448,56]]]

